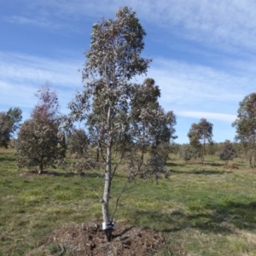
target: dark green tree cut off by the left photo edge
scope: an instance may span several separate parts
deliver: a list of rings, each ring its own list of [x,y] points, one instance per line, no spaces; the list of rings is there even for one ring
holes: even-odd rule
[[[8,148],[9,141],[20,127],[22,111],[20,108],[9,108],[0,112],[0,147]]]

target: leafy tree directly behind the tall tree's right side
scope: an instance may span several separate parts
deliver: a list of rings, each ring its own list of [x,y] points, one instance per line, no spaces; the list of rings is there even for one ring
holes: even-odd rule
[[[172,111],[165,113],[160,108],[159,86],[154,79],[145,79],[143,84],[136,84],[131,102],[131,125],[137,131],[137,170],[143,166],[144,154],[151,148],[150,154],[158,154],[165,163],[171,151],[170,145],[177,137],[174,135],[176,117]],[[140,159],[140,160],[139,160]]]

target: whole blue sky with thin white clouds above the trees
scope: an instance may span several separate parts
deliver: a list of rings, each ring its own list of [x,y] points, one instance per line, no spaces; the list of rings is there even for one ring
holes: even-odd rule
[[[160,86],[160,104],[177,116],[177,143],[192,123],[213,124],[213,140],[233,141],[239,102],[255,92],[256,2],[251,0],[12,0],[0,2],[0,111],[19,107],[23,120],[49,81],[61,112],[82,90],[84,50],[93,23],[120,6],[137,13],[147,32],[147,77]],[[143,78],[137,78],[143,81]]]

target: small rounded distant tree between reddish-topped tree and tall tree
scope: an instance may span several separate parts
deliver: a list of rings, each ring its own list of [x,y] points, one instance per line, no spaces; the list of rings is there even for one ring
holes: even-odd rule
[[[89,144],[89,138],[83,129],[73,129],[67,137],[69,152],[79,158],[86,154]]]

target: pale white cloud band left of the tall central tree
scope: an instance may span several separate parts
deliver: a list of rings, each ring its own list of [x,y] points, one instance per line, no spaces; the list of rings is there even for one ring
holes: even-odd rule
[[[61,103],[61,112],[67,113],[67,103],[76,90],[82,89],[81,67],[75,60],[51,60],[32,55],[0,52],[0,107],[7,110],[19,107],[24,118],[35,106],[38,99],[34,96],[46,81],[56,90]]]

